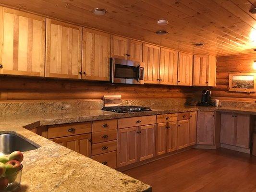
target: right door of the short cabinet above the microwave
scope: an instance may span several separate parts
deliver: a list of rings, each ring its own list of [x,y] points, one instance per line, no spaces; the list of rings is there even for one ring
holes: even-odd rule
[[[128,40],[128,60],[142,61],[142,42]]]

